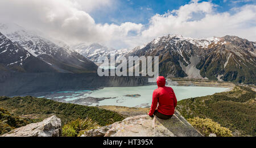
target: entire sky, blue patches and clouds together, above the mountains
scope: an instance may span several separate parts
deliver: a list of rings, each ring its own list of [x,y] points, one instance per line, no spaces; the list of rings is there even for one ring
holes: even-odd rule
[[[133,49],[176,34],[256,41],[256,0],[0,0],[0,17],[69,45]]]

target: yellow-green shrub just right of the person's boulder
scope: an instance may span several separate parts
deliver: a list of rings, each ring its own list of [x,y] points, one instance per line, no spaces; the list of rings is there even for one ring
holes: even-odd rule
[[[233,136],[231,130],[222,127],[220,124],[212,121],[211,119],[201,119],[199,117],[195,117],[193,119],[188,119],[188,122],[204,136],[209,136],[210,133],[214,133],[218,137]]]

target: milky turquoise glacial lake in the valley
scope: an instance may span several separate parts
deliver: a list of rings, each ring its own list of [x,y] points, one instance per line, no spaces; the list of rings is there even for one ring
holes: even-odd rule
[[[199,86],[170,86],[174,89],[177,100],[195,98],[197,96],[213,95],[216,92],[223,92],[229,88],[222,87],[199,87]],[[61,99],[72,101],[76,99],[93,97],[93,98],[112,98],[100,100],[95,105],[118,105],[125,107],[148,107],[152,102],[152,93],[157,86],[138,86],[138,87],[105,87],[99,90],[79,90],[79,91],[60,91],[52,92],[49,95],[40,98]],[[141,96],[131,97],[125,95]]]

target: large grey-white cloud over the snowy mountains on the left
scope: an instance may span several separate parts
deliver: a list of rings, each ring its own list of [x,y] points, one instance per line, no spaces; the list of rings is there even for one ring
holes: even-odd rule
[[[129,31],[141,31],[142,24],[130,22],[120,25],[96,24],[86,11],[81,10],[106,5],[106,2],[108,1],[1,0],[0,13],[5,14],[1,18],[5,21],[10,18],[20,26],[39,29],[68,44],[87,42],[110,45],[116,40],[125,39]],[[82,7],[84,5],[87,6]]]

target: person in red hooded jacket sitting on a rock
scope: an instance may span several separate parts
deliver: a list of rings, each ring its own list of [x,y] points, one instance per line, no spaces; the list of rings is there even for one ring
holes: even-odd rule
[[[163,76],[156,78],[158,88],[153,92],[153,100],[149,116],[156,115],[160,119],[170,119],[174,115],[177,99],[174,90],[166,86],[166,79]],[[159,104],[159,105],[158,105]],[[156,106],[158,108],[156,109]]]

